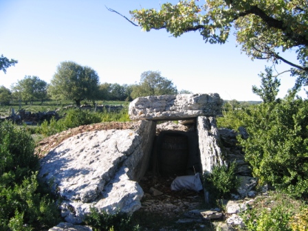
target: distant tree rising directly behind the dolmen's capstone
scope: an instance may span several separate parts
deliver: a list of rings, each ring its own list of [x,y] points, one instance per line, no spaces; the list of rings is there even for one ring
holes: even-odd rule
[[[132,98],[140,96],[175,95],[177,87],[160,72],[147,71],[141,74],[140,83],[133,87]]]

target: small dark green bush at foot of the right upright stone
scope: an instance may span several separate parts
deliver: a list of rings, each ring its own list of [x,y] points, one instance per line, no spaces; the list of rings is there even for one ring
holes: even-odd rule
[[[204,188],[208,190],[212,203],[218,199],[228,199],[231,192],[239,187],[240,181],[235,170],[236,163],[232,162],[230,166],[214,166],[212,173],[203,175]]]

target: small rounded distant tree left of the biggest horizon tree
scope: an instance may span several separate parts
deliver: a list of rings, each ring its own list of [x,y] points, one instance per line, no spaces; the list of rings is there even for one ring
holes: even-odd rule
[[[13,94],[23,100],[25,104],[33,103],[34,100],[43,100],[47,97],[47,83],[37,76],[25,76],[12,85]]]

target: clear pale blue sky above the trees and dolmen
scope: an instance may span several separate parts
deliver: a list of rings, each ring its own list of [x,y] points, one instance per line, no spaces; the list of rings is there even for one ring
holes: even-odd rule
[[[159,8],[164,2],[1,0],[0,54],[19,63],[6,74],[0,72],[0,85],[10,88],[25,75],[50,83],[61,62],[74,61],[96,70],[100,83],[138,83],[142,72],[152,70],[173,80],[179,90],[218,93],[224,100],[260,100],[252,85],[260,85],[258,74],[270,63],[241,54],[233,37],[225,45],[210,45],[198,32],[177,39],[165,30],[142,32],[105,8],[131,18],[129,10]],[[287,68],[281,65],[278,71]],[[280,78],[278,96],[283,97],[294,79],[288,74]],[[304,92],[300,96],[306,98]]]

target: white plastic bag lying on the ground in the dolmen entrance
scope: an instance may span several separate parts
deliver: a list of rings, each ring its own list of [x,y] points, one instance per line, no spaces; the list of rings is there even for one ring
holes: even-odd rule
[[[202,190],[203,187],[199,173],[196,173],[196,175],[176,177],[173,180],[171,184],[171,190],[177,191],[184,188],[188,190],[195,190],[197,192],[199,192],[199,190]]]

